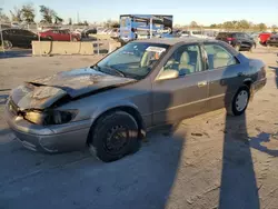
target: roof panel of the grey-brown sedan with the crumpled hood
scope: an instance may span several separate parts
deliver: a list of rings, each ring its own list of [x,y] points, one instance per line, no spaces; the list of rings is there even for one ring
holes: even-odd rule
[[[198,39],[198,38],[152,38],[152,39],[142,39],[142,40],[136,40],[135,42],[147,42],[147,43],[161,43],[161,44],[169,44],[175,46],[177,43],[203,43],[203,42],[220,42],[218,40],[211,40],[211,39]]]

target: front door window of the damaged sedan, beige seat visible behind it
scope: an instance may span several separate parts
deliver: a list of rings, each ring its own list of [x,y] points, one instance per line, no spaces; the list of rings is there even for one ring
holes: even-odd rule
[[[178,48],[165,64],[163,70],[177,70],[179,76],[202,71],[199,46],[190,44]]]

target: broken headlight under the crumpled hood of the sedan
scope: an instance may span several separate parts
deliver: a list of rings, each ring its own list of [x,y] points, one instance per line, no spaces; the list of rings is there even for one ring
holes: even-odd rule
[[[24,119],[36,125],[62,125],[71,121],[77,116],[77,110],[47,110],[29,111]]]

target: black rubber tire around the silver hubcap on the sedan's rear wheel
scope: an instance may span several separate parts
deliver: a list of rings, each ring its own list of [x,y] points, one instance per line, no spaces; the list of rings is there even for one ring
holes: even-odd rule
[[[237,102],[238,102],[239,96],[242,92],[247,93],[247,101],[246,101],[246,104],[245,104],[244,108],[242,107],[239,108]],[[247,86],[240,87],[238,89],[237,93],[234,96],[232,101],[231,101],[231,107],[230,107],[231,108],[231,115],[232,116],[241,116],[246,111],[246,109],[248,107],[249,99],[250,99],[250,89]]]

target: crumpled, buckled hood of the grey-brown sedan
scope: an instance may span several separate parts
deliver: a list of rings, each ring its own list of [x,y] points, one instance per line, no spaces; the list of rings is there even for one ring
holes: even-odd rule
[[[13,89],[10,98],[20,110],[43,110],[59,101],[79,99],[136,80],[85,68],[26,82]]]

